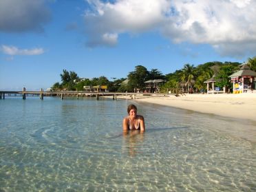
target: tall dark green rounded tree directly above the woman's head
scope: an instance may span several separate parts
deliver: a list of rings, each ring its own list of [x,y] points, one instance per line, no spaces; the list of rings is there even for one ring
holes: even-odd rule
[[[129,83],[127,85],[127,88],[129,90],[144,89],[145,81],[147,81],[148,77],[149,77],[149,72],[147,71],[147,68],[143,67],[142,65],[137,65],[135,67],[135,71],[130,72],[128,74]]]

